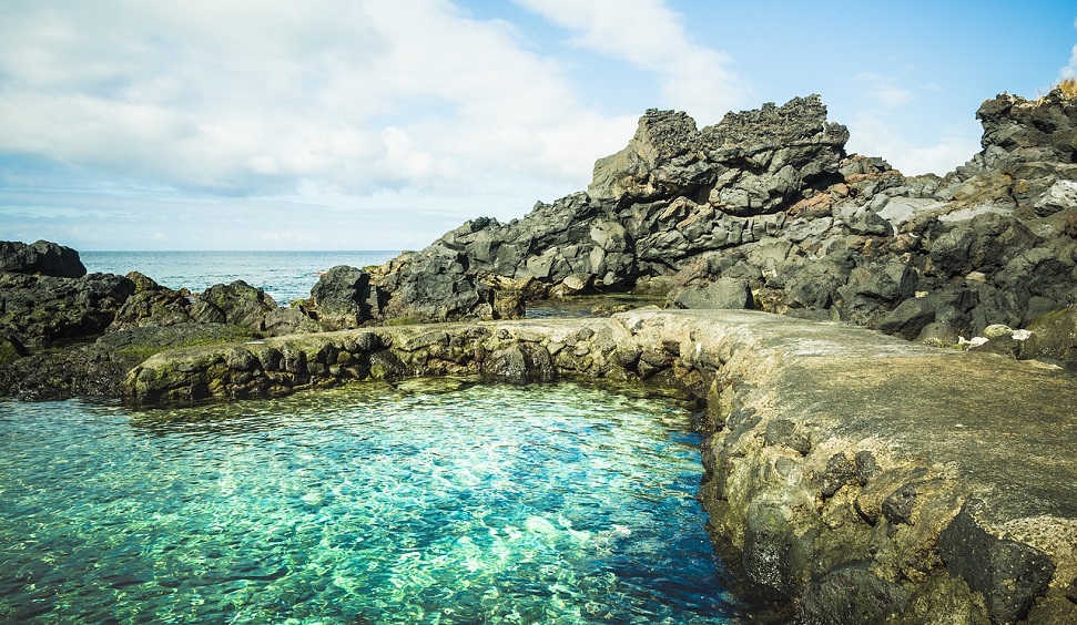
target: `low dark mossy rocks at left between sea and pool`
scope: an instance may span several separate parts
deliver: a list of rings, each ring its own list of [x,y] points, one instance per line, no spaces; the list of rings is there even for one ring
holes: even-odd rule
[[[59,248],[40,242],[4,246]],[[126,372],[164,349],[323,329],[243,281],[194,296],[136,271],[78,278],[2,273],[0,397],[116,397]]]

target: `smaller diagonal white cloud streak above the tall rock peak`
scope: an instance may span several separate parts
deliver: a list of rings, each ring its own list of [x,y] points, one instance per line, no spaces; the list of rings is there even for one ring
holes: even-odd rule
[[[732,60],[695,43],[683,18],[661,0],[517,0],[576,34],[569,42],[627,61],[659,76],[662,106],[715,123],[751,92],[730,69]]]

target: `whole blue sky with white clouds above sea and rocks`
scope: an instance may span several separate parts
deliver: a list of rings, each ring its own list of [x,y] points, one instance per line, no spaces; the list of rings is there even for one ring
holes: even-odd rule
[[[0,240],[419,249],[586,189],[647,109],[811,93],[942,175],[1073,76],[1071,0],[3,0]]]

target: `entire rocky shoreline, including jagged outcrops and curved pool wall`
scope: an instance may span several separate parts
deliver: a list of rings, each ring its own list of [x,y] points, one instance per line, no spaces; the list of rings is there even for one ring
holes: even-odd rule
[[[648,111],[586,193],[289,307],[0,242],[0,397],[643,380],[700,402],[700,498],[753,594],[807,623],[1077,622],[1077,100],[977,116],[979,154],[906,177],[817,96],[702,130]],[[518,319],[597,294],[673,309]]]

